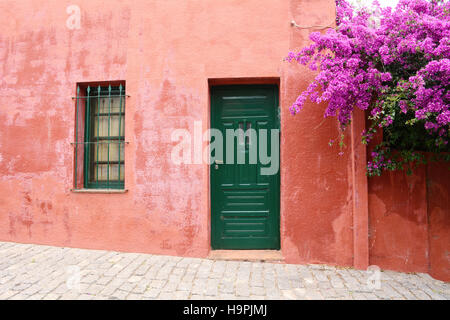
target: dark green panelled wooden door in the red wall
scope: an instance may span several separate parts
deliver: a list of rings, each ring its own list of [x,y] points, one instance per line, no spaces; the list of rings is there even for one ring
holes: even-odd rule
[[[280,248],[280,173],[262,174],[269,164],[250,160],[251,148],[259,154],[261,132],[267,130],[267,149],[274,139],[279,155],[278,87],[273,85],[215,86],[211,89],[211,128],[223,135],[223,164],[211,164],[211,245],[213,249]],[[227,129],[242,129],[233,137],[227,154]],[[248,129],[254,129],[254,135]],[[229,130],[231,131],[231,130]],[[277,130],[273,131],[277,132]],[[212,138],[212,141],[215,139]],[[253,153],[254,154],[254,153]],[[213,156],[216,156],[214,152]],[[227,161],[234,157],[234,163]],[[238,161],[238,157],[245,158]],[[254,159],[254,158],[253,158]]]

